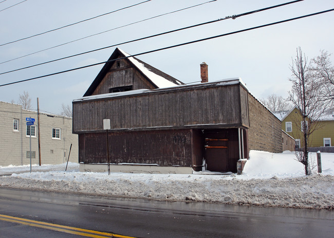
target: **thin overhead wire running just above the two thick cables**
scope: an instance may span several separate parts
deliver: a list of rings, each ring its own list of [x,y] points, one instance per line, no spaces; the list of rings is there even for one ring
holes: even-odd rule
[[[29,54],[26,54],[25,56],[20,56],[20,57],[11,59],[11,60],[7,60],[7,61],[4,61],[4,62],[1,62],[0,64],[4,64],[4,63],[7,63],[7,62],[10,62],[10,61],[13,61],[13,60],[17,60],[17,59],[21,59],[21,58],[24,58],[24,57],[27,57],[27,56],[31,56],[32,54],[40,53],[40,52],[43,52],[45,50],[49,50],[49,49],[53,49],[53,48],[57,48],[59,46],[67,45],[69,43],[73,43],[73,42],[76,42],[76,41],[84,40],[84,39],[87,39],[87,38],[89,38],[91,36],[103,34],[103,33],[106,33],[106,32],[112,31],[112,30],[120,29],[122,27],[134,25],[134,24],[141,23],[141,22],[144,22],[144,21],[147,21],[147,20],[155,19],[155,18],[160,17],[160,16],[164,16],[164,15],[172,14],[172,13],[175,13],[175,12],[187,10],[187,9],[190,9],[190,8],[193,8],[193,7],[198,7],[198,6],[201,6],[203,4],[212,3],[212,2],[215,2],[215,1],[217,1],[217,0],[212,0],[212,1],[209,1],[209,2],[205,2],[205,3],[193,5],[193,6],[190,6],[190,7],[187,7],[187,8],[182,8],[182,9],[175,10],[175,11],[172,11],[172,12],[168,12],[168,13],[163,13],[163,14],[160,14],[160,15],[152,16],[152,17],[146,18],[144,20],[140,20],[140,21],[137,21],[137,22],[129,23],[129,24],[126,24],[126,25],[123,25],[123,26],[119,26],[119,27],[116,27],[116,28],[113,28],[113,29],[109,29],[109,30],[106,30],[106,31],[102,31],[102,32],[99,32],[99,33],[96,33],[96,34],[91,34],[91,35],[85,36],[83,38],[79,38],[77,40],[69,41],[69,42],[66,42],[66,43],[63,43],[63,44],[60,44],[60,45],[52,46],[52,47],[49,47],[49,48],[46,48],[46,49],[42,49],[42,50],[39,50],[39,51],[36,51],[36,52],[33,52],[33,53],[29,53]]]

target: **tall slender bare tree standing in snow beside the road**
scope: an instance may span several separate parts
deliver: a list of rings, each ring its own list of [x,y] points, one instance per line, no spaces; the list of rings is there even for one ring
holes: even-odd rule
[[[296,58],[290,65],[292,77],[289,81],[292,88],[289,91],[288,101],[298,108],[301,117],[296,117],[294,124],[301,126],[301,146],[303,151],[296,152],[296,160],[304,164],[305,174],[311,173],[308,159],[308,143],[310,135],[319,128],[319,118],[325,107],[319,100],[321,85],[317,83],[312,67],[307,62],[301,47],[296,50]],[[299,119],[298,119],[299,118]],[[301,119],[301,120],[300,120]]]

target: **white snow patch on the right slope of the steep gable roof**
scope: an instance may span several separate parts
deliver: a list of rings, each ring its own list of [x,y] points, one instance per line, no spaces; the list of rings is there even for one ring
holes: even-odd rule
[[[149,78],[159,88],[162,88],[162,87],[173,87],[173,86],[178,85],[178,84],[175,84],[175,83],[173,83],[173,82],[171,82],[171,81],[169,81],[169,80],[161,77],[160,75],[155,74],[150,69],[146,68],[144,66],[144,64],[140,63],[139,61],[137,61],[133,57],[129,57],[129,56],[131,56],[130,54],[124,52],[120,48],[118,48],[118,49],[124,54],[124,56],[128,57],[129,61],[131,61],[147,78]]]

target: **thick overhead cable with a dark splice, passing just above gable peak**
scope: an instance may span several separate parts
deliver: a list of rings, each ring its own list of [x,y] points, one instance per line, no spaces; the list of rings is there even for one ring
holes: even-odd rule
[[[39,63],[39,64],[34,64],[34,65],[26,66],[26,67],[23,67],[23,68],[18,68],[18,69],[13,69],[13,70],[6,71],[6,72],[1,72],[0,75],[8,74],[10,72],[14,72],[14,71],[22,70],[22,69],[27,69],[27,68],[31,68],[31,67],[35,67],[35,66],[40,66],[40,65],[43,65],[43,64],[52,63],[52,62],[59,61],[59,60],[68,59],[68,58],[71,58],[71,57],[81,56],[82,54],[91,53],[91,52],[95,52],[95,51],[98,51],[98,50],[103,50],[103,49],[107,49],[107,48],[111,48],[111,47],[115,47],[115,46],[119,46],[119,45],[124,45],[124,44],[127,44],[127,43],[132,43],[132,42],[141,41],[141,40],[145,40],[145,39],[149,39],[149,38],[154,38],[156,36],[169,34],[169,33],[176,32],[176,31],[181,31],[181,30],[185,30],[185,29],[189,29],[189,28],[193,28],[193,27],[198,27],[198,26],[202,26],[202,25],[206,25],[206,24],[211,24],[211,23],[215,23],[215,22],[219,22],[219,21],[223,21],[223,20],[227,20],[227,19],[236,19],[237,17],[240,17],[240,16],[245,16],[245,15],[257,13],[257,12],[269,10],[269,9],[272,9],[272,8],[282,7],[282,6],[285,6],[285,5],[288,5],[288,4],[301,2],[301,1],[304,1],[304,0],[296,0],[296,1],[288,2],[288,3],[284,3],[284,4],[279,4],[279,5],[275,5],[275,6],[271,6],[271,7],[266,7],[266,8],[262,8],[262,9],[257,9],[257,10],[241,13],[241,14],[226,16],[225,18],[221,18],[221,19],[214,20],[214,21],[200,23],[200,24],[196,24],[196,25],[192,25],[192,26],[188,26],[188,27],[182,27],[182,28],[179,28],[179,29],[171,30],[171,31],[165,31],[165,32],[158,33],[158,34],[145,36],[143,38],[139,38],[139,39],[135,39],[135,40],[131,40],[131,41],[126,41],[126,42],[122,42],[122,43],[118,43],[118,44],[115,44],[115,45],[110,45],[110,46],[106,46],[106,47],[102,47],[102,48],[98,48],[98,49],[94,49],[94,50],[89,50],[89,51],[85,51],[85,52],[78,53],[78,54],[72,54],[71,56],[66,56],[66,57],[63,57],[63,58],[59,58],[59,59],[55,59],[55,60],[51,60],[51,61],[47,61],[47,62],[43,62],[43,63]]]

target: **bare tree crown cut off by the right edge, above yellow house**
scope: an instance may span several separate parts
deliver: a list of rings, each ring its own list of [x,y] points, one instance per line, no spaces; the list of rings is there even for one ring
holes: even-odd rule
[[[330,53],[322,50],[320,56],[311,60],[313,74],[321,87],[319,99],[329,107],[334,105],[334,66],[330,56]]]

